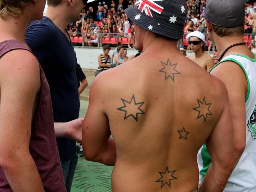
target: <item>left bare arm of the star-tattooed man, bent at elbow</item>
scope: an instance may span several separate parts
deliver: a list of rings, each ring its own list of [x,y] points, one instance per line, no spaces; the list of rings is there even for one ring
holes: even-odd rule
[[[82,144],[85,159],[113,166],[116,149],[113,139],[109,138],[109,122],[103,107],[107,97],[102,91],[105,88],[100,83],[101,76],[97,76],[90,89],[89,107],[82,128]]]

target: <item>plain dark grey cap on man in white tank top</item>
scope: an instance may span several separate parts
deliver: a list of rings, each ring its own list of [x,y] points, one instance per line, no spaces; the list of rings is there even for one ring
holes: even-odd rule
[[[211,24],[220,27],[243,26],[245,0],[207,0],[204,18]]]

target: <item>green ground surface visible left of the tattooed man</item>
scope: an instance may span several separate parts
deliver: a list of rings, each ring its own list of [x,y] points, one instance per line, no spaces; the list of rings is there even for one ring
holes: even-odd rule
[[[84,117],[88,101],[80,100],[79,117]],[[78,158],[71,192],[111,192],[111,173],[113,167],[102,163]]]

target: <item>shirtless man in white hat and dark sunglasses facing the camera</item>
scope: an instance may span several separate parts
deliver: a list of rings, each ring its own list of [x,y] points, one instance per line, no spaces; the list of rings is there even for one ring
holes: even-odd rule
[[[194,55],[190,55],[189,59],[209,71],[214,66],[214,61],[210,55],[204,52],[204,46],[206,45],[204,34],[194,31],[189,33],[186,38],[191,50],[195,53]]]

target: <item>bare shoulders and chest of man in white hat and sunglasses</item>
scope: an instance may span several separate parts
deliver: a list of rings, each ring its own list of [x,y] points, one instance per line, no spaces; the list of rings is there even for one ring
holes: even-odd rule
[[[189,59],[191,59],[192,61],[194,61],[200,67],[202,67],[207,71],[209,71],[214,66],[213,59],[206,52],[203,52],[201,57],[198,57],[198,58],[195,57],[195,54],[190,55]]]

